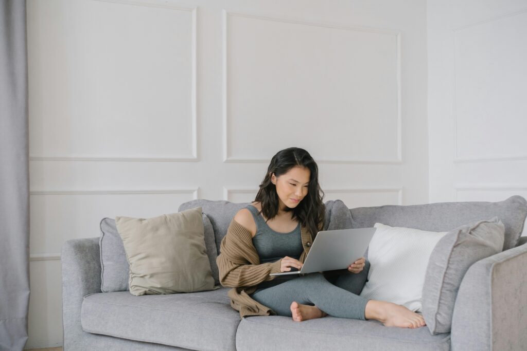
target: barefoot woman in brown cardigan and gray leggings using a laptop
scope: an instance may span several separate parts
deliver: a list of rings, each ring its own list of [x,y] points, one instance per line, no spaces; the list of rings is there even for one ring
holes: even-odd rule
[[[320,195],[322,193],[322,195]],[[368,275],[363,258],[347,269],[303,276],[270,276],[300,269],[325,220],[318,167],[290,147],[272,157],[255,201],[238,211],[220,245],[220,283],[240,316],[280,315],[295,321],[327,315],[376,319],[418,328],[421,315],[404,306],[359,296]]]

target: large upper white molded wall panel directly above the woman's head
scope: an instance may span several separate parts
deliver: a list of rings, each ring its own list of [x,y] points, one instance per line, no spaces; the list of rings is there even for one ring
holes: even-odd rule
[[[224,11],[224,162],[309,145],[319,163],[402,163],[400,56],[397,31]]]

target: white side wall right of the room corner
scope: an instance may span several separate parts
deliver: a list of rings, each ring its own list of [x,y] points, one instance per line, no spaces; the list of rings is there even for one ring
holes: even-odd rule
[[[527,1],[428,0],[427,27],[430,202],[527,197]]]

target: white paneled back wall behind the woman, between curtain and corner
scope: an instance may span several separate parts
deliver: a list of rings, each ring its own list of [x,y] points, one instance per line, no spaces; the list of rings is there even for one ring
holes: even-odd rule
[[[27,348],[62,344],[60,250],[103,217],[253,199],[272,155],[326,200],[428,202],[426,3],[28,0]]]

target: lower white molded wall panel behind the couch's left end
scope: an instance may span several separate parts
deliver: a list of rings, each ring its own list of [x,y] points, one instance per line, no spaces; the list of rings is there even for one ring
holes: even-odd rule
[[[99,236],[104,217],[149,218],[178,212],[181,203],[198,198],[198,190],[32,191],[31,259],[60,259],[65,240]]]

